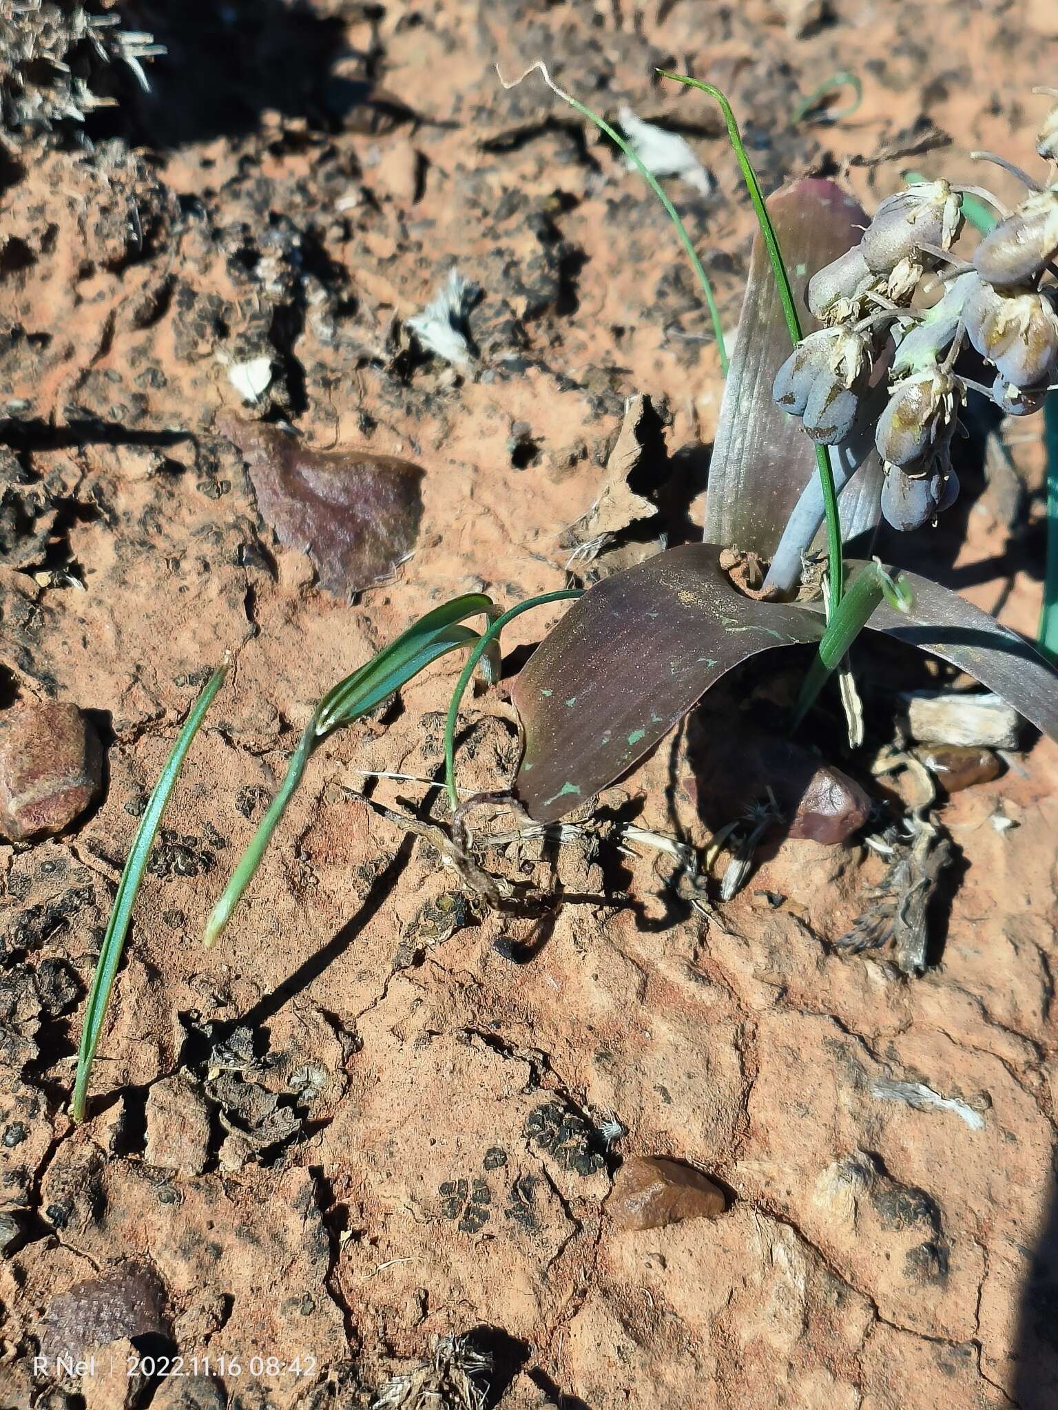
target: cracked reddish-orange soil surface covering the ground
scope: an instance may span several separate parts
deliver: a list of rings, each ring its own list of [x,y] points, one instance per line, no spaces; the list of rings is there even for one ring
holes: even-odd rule
[[[13,149],[0,193],[3,704],[75,701],[106,750],[89,814],[0,846],[17,1230],[0,1406],[367,1407],[434,1335],[466,1332],[504,1410],[1058,1404],[1047,740],[944,808],[959,884],[941,963],[907,983],[884,953],[828,946],[880,876],[859,846],[784,842],[707,915],[663,856],[585,833],[490,853],[561,890],[543,921],[475,914],[429,838],[360,797],[444,821],[436,792],[363,771],[437,777],[451,657],[326,740],[230,931],[197,945],[324,689],[457,592],[509,606],[564,587],[561,533],[598,494],[626,396],[662,407],[673,462],[712,439],[715,347],[662,213],[494,63],[546,58],[608,114],[688,134],[715,188],[671,190],[734,327],[752,234],[736,165],[704,100],[653,66],[726,89],[767,189],[838,172],[872,209],[908,165],[969,180],[973,148],[1026,161],[1031,87],[1058,59],[1051,0],[192,3],[181,30],[164,8],[134,10],[169,47],[154,102],[104,110],[89,148]],[[791,125],[838,69],[863,80],[856,114]],[[411,113],[371,106],[365,79]],[[453,265],[482,289],[471,371],[405,327]],[[227,374],[258,357],[271,384],[245,410]],[[353,605],[320,591],[260,517],[221,407],[423,467],[392,581]],[[1017,478],[961,470],[941,529],[884,551],[1033,633],[1040,419],[1004,434]],[[512,625],[508,677],[560,612]],[[114,884],[226,651],[75,1128]],[[464,726],[461,783],[505,787],[502,688]],[[609,790],[607,815],[707,840],[681,749]],[[944,1104],[893,1100],[900,1083]],[[622,1152],[693,1162],[728,1211],[619,1231]],[[100,1341],[61,1299],[116,1265],[151,1270],[148,1331],[212,1376],[35,1373],[42,1338]],[[251,1373],[254,1356],[288,1369]]]

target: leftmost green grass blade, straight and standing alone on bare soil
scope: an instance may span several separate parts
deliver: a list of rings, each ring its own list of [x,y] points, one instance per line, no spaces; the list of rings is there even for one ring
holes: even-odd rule
[[[219,666],[210,675],[202,694],[195,702],[195,708],[190,715],[188,715],[186,723],[181,730],[179,739],[174,744],[161,778],[154,785],[154,792],[151,794],[147,808],[144,809],[144,815],[140,819],[133,849],[128,853],[128,860],[126,862],[124,871],[121,873],[106,935],[103,936],[103,945],[99,950],[99,963],[96,964],[96,973],[92,980],[92,988],[89,990],[87,1004],[85,1007],[85,1024],[80,1029],[78,1073],[73,1083],[72,1112],[75,1121],[85,1120],[92,1063],[95,1062],[96,1048],[99,1046],[99,1039],[103,1032],[103,1019],[106,1018],[107,1004],[110,1003],[110,994],[114,987],[114,977],[117,976],[117,966],[121,962],[121,950],[124,949],[126,938],[128,935],[133,907],[135,905],[135,897],[140,891],[140,881],[142,880],[144,869],[147,866],[147,857],[158,832],[158,823],[161,822],[162,812],[169,801],[169,794],[172,792],[179,771],[183,767],[183,760],[190,749],[190,743],[206,716],[206,711],[213,704],[213,697],[224,684],[226,675],[227,663],[224,666]]]

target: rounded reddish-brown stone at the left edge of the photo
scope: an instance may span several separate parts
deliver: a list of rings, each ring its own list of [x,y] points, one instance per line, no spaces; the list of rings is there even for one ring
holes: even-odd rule
[[[54,836],[100,784],[99,737],[69,701],[25,701],[0,716],[0,833]]]

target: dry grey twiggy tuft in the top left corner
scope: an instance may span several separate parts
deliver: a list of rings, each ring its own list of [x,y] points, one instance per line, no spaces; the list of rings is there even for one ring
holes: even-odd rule
[[[0,109],[8,133],[83,123],[113,106],[120,70],[148,90],[142,59],[165,54],[154,35],[123,30],[103,0],[93,13],[71,0],[0,0]]]

